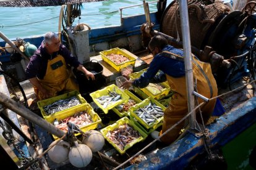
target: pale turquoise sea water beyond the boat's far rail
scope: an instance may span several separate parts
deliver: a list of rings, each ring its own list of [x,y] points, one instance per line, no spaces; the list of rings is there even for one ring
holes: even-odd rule
[[[156,12],[156,2],[148,0],[150,12]],[[168,4],[171,1],[168,1]],[[82,4],[81,18],[73,25],[86,23],[92,29],[103,26],[121,25],[121,7],[142,4],[142,0],[109,0]],[[8,38],[24,38],[58,32],[61,6],[50,7],[0,7],[0,31]],[[122,17],[144,14],[143,5],[122,10]]]

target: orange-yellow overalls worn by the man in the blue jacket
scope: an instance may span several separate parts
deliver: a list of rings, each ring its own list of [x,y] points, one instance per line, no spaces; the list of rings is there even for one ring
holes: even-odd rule
[[[183,57],[173,54],[171,52],[162,52],[162,54],[166,57],[170,57],[172,59],[184,60]],[[194,81],[197,81],[197,91],[199,94],[207,98],[215,97],[218,95],[217,84],[213,74],[211,73],[211,67],[209,63],[200,62],[193,55],[192,59],[192,68],[193,68],[193,76]],[[169,75],[166,75],[169,86],[172,91],[174,91],[174,95],[169,102],[169,106],[164,111],[164,119],[163,119],[163,128],[160,132],[160,135],[163,132],[167,131],[169,127],[176,124],[180,119],[184,118],[188,113],[187,108],[187,88],[186,88],[186,77],[181,78],[173,78]],[[191,84],[193,86],[193,84]],[[198,98],[198,103],[202,103],[203,100]],[[210,102],[203,105],[201,108],[203,121],[206,123],[213,112],[215,107],[216,100],[211,100]],[[200,116],[197,115],[197,118]],[[199,123],[202,123],[200,119],[197,119]],[[184,127],[184,121],[178,124],[174,129],[169,131],[166,135],[161,137],[161,141],[165,144],[171,144],[174,140],[179,136],[179,132]]]

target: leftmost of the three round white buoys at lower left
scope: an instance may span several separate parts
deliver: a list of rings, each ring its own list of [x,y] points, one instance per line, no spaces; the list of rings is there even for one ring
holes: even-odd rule
[[[51,143],[51,145],[55,143],[56,141]],[[49,147],[51,147],[51,145],[49,145]],[[58,144],[56,144],[48,151],[49,158],[55,163],[64,162],[67,160],[67,158],[69,158],[69,148],[70,144],[68,142],[65,142],[64,140],[61,140]]]

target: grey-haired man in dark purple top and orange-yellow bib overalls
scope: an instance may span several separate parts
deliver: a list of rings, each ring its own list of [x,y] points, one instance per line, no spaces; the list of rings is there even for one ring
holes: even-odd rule
[[[83,67],[77,58],[60,44],[58,34],[48,32],[41,46],[30,58],[25,75],[33,84],[38,99],[43,100],[59,95],[60,92],[79,91],[69,67],[82,71],[87,79],[95,79],[93,73]]]

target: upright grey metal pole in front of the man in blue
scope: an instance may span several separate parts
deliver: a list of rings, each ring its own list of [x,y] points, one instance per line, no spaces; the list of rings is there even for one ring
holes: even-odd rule
[[[187,106],[189,112],[195,107],[195,99],[193,96],[194,80],[192,71],[192,55],[190,44],[190,30],[189,30],[189,14],[187,8],[187,0],[179,0],[179,12],[181,14],[181,31],[182,42],[185,59],[185,71],[186,71],[186,85],[187,85]],[[195,128],[195,112],[189,117],[190,128]]]

